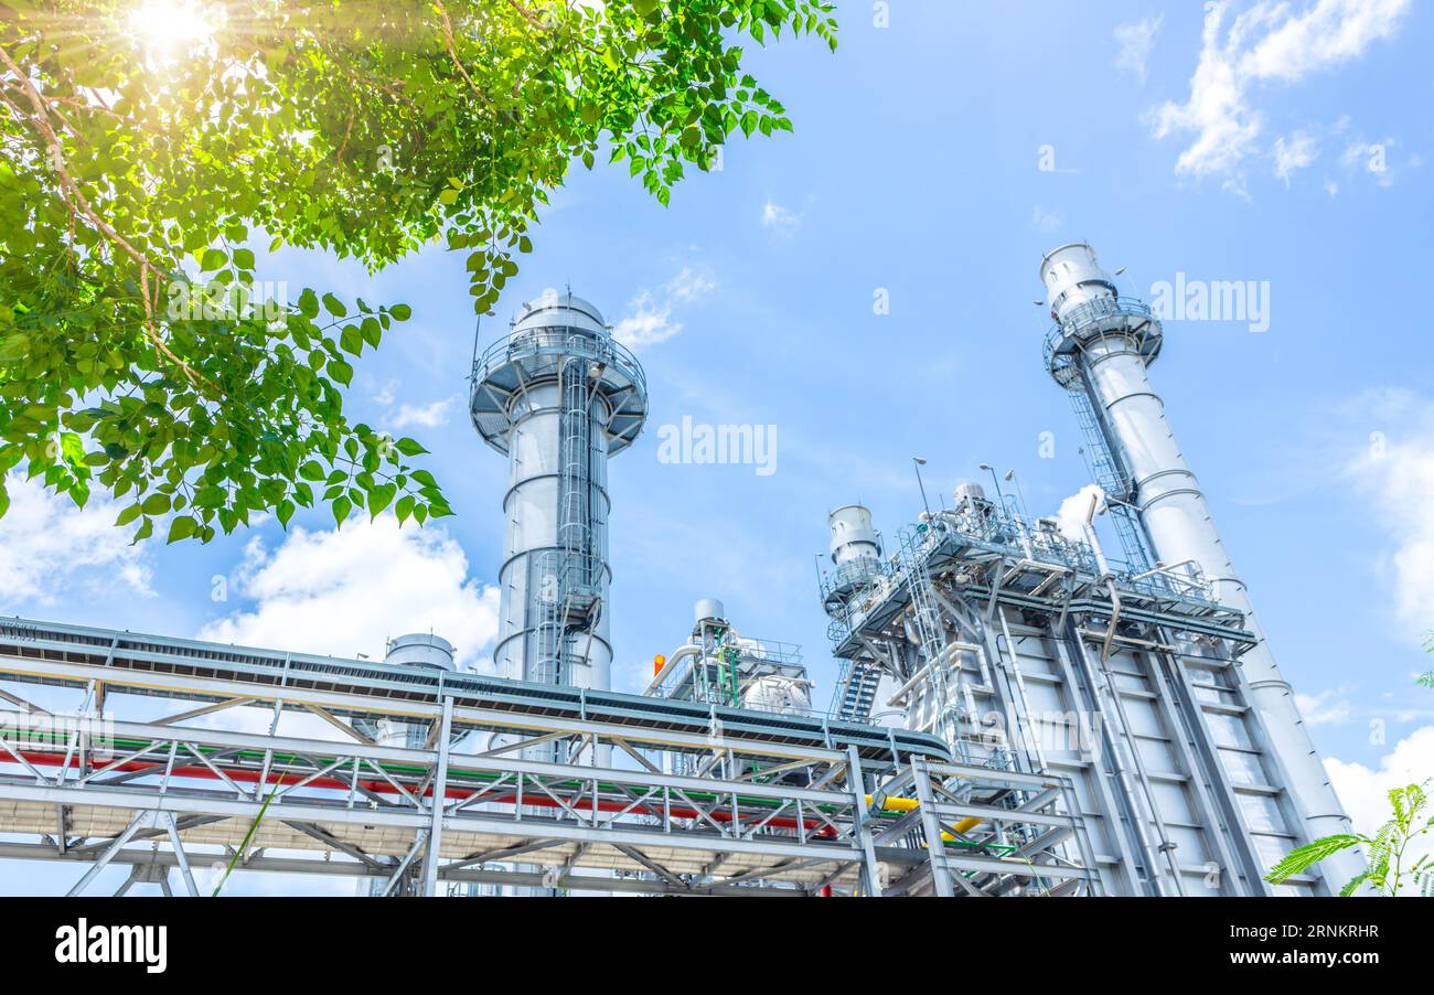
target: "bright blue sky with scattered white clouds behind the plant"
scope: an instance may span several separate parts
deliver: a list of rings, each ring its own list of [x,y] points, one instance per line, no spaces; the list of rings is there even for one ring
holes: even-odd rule
[[[1262,334],[1167,323],[1153,380],[1347,804],[1401,764],[1434,773],[1434,692],[1414,685],[1434,662],[1434,11],[843,0],[839,17],[836,54],[751,53],[794,135],[739,141],[668,209],[625,169],[579,166],[483,324],[488,344],[571,282],[645,340],[648,430],[611,467],[614,687],[640,690],[716,596],[744,635],[803,645],[825,707],[830,508],[866,502],[895,535],[921,510],[912,456],[934,503],[982,462],[1014,469],[1034,513],[1078,492],[1032,301],[1043,252],[1088,239],[1133,295],[1179,272],[1268,287]],[[506,467],[463,410],[462,255],[369,277],[284,252],[260,278],[414,307],[348,406],[429,446],[457,516],[336,536],[301,515],[287,543],[271,520],[130,551],[112,509],[20,492],[0,611],[373,657],[432,625],[482,658]],[[660,462],[657,429],[684,416],[776,426],[776,470]]]

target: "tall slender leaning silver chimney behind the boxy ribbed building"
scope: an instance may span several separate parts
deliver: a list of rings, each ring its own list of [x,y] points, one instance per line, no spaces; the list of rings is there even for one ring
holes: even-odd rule
[[[1108,426],[1108,444],[1130,473],[1141,523],[1156,556],[1166,563],[1195,561],[1212,584],[1215,598],[1245,614],[1258,645],[1240,662],[1250,697],[1289,780],[1289,794],[1311,839],[1349,832],[1349,819],[1315,753],[1295,695],[1255,616],[1245,584],[1215,528],[1199,480],[1166,420],[1164,403],[1147,374],[1159,354],[1162,330],[1143,308],[1119,301],[1114,281],[1100,268],[1088,245],[1065,245],[1045,257],[1041,280],[1051,313],[1061,325],[1055,348],[1071,357],[1053,376],[1073,390],[1086,390]],[[1070,376],[1077,374],[1077,376]],[[1335,890],[1361,870],[1358,856],[1342,853],[1321,865]]]

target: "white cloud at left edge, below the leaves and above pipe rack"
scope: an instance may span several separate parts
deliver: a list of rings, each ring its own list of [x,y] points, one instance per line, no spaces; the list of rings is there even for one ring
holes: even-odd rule
[[[9,475],[6,489],[10,509],[0,518],[0,598],[6,602],[53,605],[76,584],[112,596],[153,594],[145,546],[129,545],[130,528],[115,528],[122,505],[99,487],[83,509],[20,473]]]

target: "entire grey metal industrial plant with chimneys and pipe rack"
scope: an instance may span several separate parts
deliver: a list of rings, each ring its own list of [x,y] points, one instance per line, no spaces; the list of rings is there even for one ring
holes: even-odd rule
[[[217,869],[374,896],[1338,892],[1352,850],[1263,880],[1348,819],[1150,377],[1160,321],[1090,245],[1040,278],[1098,485],[1081,535],[997,479],[896,535],[832,495],[820,586],[784,594],[827,616],[835,687],[694,591],[645,691],[611,690],[611,621],[641,605],[609,568],[608,462],[648,386],[551,292],[470,380],[508,460],[496,675],[442,632],[370,662],[0,619],[0,859],[70,865],[72,895],[105,867],[188,895]]]

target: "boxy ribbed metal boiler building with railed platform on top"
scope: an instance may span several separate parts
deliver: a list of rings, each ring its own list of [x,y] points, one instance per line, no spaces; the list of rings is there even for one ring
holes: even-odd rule
[[[1068,777],[1096,850],[1076,856],[1108,893],[1271,893],[1265,869],[1308,839],[1239,668],[1253,637],[1153,575],[1103,573],[1014,518],[942,512],[849,602],[833,648],[846,672],[892,678],[882,704],[961,760]]]

